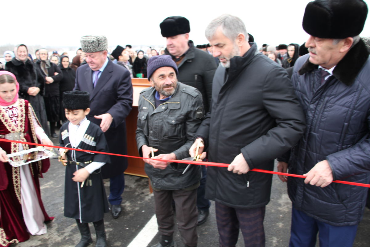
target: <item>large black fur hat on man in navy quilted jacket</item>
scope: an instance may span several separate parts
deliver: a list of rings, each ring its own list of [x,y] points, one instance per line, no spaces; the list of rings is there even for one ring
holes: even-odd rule
[[[367,16],[362,0],[315,0],[306,6],[303,29],[326,39],[344,39],[361,33]]]

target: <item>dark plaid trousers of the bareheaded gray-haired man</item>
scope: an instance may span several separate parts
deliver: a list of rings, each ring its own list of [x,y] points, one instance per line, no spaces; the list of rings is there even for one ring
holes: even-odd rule
[[[263,218],[266,207],[240,209],[218,202],[215,207],[220,247],[235,247],[239,228],[242,231],[245,246],[265,246]]]

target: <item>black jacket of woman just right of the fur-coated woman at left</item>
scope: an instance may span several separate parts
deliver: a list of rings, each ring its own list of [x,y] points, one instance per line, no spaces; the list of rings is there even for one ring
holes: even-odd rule
[[[45,77],[47,76],[44,71],[41,70],[41,61],[37,60],[36,62],[37,69],[40,71],[42,76]],[[59,96],[59,82],[63,79],[63,73],[59,69],[59,67],[55,63],[50,62],[50,67],[47,69],[48,71],[48,76],[54,79],[53,83],[46,84],[45,83],[45,92],[44,92],[44,97],[52,97],[52,96]],[[54,76],[54,73],[57,72],[58,74]]]

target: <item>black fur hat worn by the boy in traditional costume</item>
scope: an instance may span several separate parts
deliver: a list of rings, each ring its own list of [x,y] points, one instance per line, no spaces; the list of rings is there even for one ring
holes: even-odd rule
[[[68,91],[63,93],[63,107],[70,110],[86,110],[90,106],[90,93],[85,91]]]

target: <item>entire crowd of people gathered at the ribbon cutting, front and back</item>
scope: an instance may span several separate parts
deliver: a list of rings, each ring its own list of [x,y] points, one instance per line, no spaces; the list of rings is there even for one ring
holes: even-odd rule
[[[76,247],[92,243],[89,222],[95,246],[105,247],[104,213],[121,214],[128,163],[89,151],[127,154],[131,78],[147,78],[136,142],[154,193],[160,239],[152,247],[176,246],[174,217],[184,246],[196,247],[209,200],[220,247],[234,247],[239,231],[245,246],[265,246],[272,175],[249,170],[273,170],[275,159],[278,171],[305,176],[279,175],[293,205],[289,246],[314,247],[319,233],[320,246],[350,247],[367,190],[332,182],[370,183],[370,49],[359,37],[367,12],[362,0],[308,3],[302,25],[309,39],[302,45],[258,48],[243,21],[229,14],[208,24],[206,45],[194,46],[182,16],[159,24],[166,48],[158,51],[118,45],[109,54],[105,36],[84,36],[70,63],[68,54],[49,56],[47,49],[34,61],[20,44],[4,53],[0,71],[0,138],[50,145],[61,126],[59,160],[70,195],[64,215],[81,233]],[[38,182],[49,161],[11,167],[7,154],[30,147],[0,146],[0,244],[9,246],[46,233],[44,222],[53,219]],[[169,161],[189,156],[229,166]],[[108,200],[103,178],[110,179]]]

